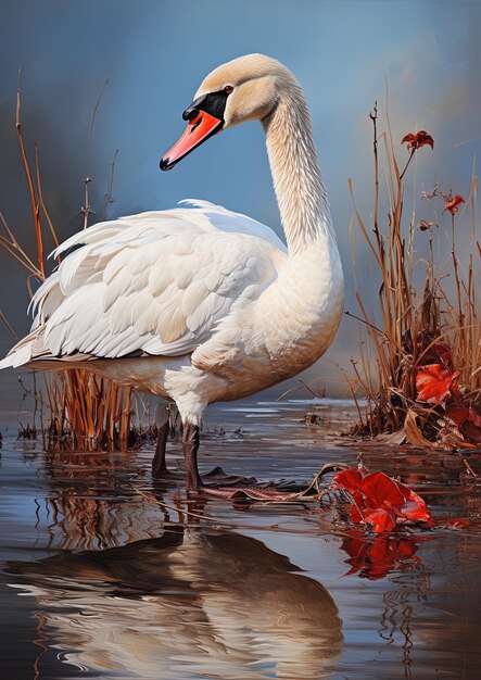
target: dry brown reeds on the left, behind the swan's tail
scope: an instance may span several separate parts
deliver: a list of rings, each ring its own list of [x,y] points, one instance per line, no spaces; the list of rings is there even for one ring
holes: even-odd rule
[[[18,243],[1,214],[3,232],[0,232],[0,245],[17,260],[26,270],[27,287],[31,297],[34,292],[33,281],[39,285],[48,276],[43,236],[49,232],[55,245],[59,245],[59,239],[43,200],[37,146],[35,146],[35,169],[33,171],[27,158],[20,112],[21,90],[18,86],[16,130],[31,204],[37,245],[36,260],[30,257]],[[84,181],[85,207],[81,212],[84,213],[84,228],[86,228],[90,214],[89,180]],[[40,416],[39,430],[47,449],[77,451],[119,449],[125,451],[144,439],[147,435],[155,436],[155,428],[150,425],[149,408],[143,406],[140,398],[132,401],[130,389],[119,387],[81,369],[45,372],[41,375],[42,379],[39,386],[34,379],[31,394],[35,399],[36,413]],[[34,420],[34,426],[24,428],[23,435],[31,437],[36,433],[37,428]]]

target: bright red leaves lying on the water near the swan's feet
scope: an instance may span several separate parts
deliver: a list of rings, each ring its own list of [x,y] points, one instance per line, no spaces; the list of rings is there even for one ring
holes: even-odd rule
[[[354,467],[334,477],[338,489],[345,489],[353,499],[351,520],[371,527],[375,533],[392,531],[406,521],[431,522],[425,501],[412,489],[384,473],[362,476]]]

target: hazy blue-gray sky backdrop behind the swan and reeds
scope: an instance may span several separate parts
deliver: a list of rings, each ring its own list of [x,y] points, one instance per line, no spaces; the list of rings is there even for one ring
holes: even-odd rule
[[[385,129],[388,95],[395,144],[419,128],[435,139],[433,152],[423,149],[417,155],[416,182],[413,172],[406,187],[416,218],[433,217],[432,209],[419,201],[422,186],[441,181],[444,189],[467,196],[481,148],[480,36],[478,2],[2,0],[0,209],[34,253],[14,129],[21,66],[28,152],[33,159],[36,140],[46,202],[62,238],[81,228],[84,177],[93,180],[93,219],[105,217],[116,150],[110,217],[203,198],[280,231],[258,124],[215,137],[172,173],[159,171],[161,155],[182,129],[181,111],[204,75],[240,54],[264,52],[284,62],[304,86],[346,272],[346,308],[355,312],[347,178],[354,179],[368,219],[372,163],[367,114],[378,100]],[[406,158],[401,146],[398,154]],[[470,224],[467,214],[465,222]],[[446,238],[442,227],[436,247],[442,249]],[[0,266],[0,310],[21,333],[27,329],[25,277],[4,253]],[[374,301],[376,280],[363,248],[358,266]],[[2,345],[8,344],[7,330],[0,333]],[[345,391],[334,364],[345,365],[356,355],[358,341],[355,323],[345,319],[309,380],[321,377],[331,394]]]

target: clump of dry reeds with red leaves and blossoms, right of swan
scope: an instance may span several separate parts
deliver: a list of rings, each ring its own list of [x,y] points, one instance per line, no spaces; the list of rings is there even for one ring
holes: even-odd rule
[[[376,310],[369,313],[357,284],[353,255],[355,295],[367,336],[360,357],[352,360],[354,376],[347,376],[358,415],[353,432],[381,436],[393,443],[473,448],[481,443],[481,328],[476,281],[481,247],[476,240],[476,173],[466,200],[458,193],[443,192],[440,185],[431,192],[422,191],[422,212],[436,206],[442,212],[436,222],[416,222],[414,212],[405,215],[404,178],[414,155],[425,146],[433,148],[434,140],[425,130],[406,135],[402,143],[407,144],[409,155],[403,167],[389,124],[387,131],[378,134],[376,106],[370,118],[375,161],[370,225],[356,206],[351,180],[350,190],[379,290]],[[387,206],[384,229],[380,226],[380,205]],[[468,238],[458,224],[464,205],[472,213]],[[435,232],[442,235],[442,230],[451,243],[440,263],[433,244]],[[427,244],[419,243],[419,239],[427,240]],[[466,256],[467,242],[472,248]],[[459,257],[459,243],[466,267]],[[427,257],[418,250],[427,250]],[[366,398],[365,407],[358,401],[359,393]]]

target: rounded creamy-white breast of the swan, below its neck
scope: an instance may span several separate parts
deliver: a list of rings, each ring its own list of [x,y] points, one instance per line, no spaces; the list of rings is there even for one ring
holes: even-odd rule
[[[239,399],[311,366],[331,344],[342,316],[344,288],[336,251],[292,257],[258,300],[219,325],[198,348],[193,364],[221,376]]]

